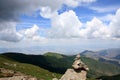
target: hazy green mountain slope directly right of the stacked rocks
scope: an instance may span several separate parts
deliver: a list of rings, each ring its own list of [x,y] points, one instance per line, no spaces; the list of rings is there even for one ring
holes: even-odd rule
[[[120,73],[120,67],[113,64],[96,61],[90,58],[83,57],[82,60],[89,66],[90,71],[88,76],[98,77],[103,75],[115,75]]]

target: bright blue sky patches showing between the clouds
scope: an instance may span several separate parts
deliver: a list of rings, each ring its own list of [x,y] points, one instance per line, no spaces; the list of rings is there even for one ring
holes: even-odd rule
[[[107,14],[115,14],[116,10],[120,7],[120,1],[119,0],[96,0],[93,3],[90,4],[84,4],[77,7],[71,7],[67,5],[62,5],[60,9],[57,10],[59,14],[64,13],[65,11],[73,10],[76,15],[79,17],[81,22],[85,23],[87,21],[90,21],[93,17],[103,17]],[[99,10],[103,10],[103,12],[98,12],[97,9],[94,10],[92,7],[96,7]],[[107,9],[107,10],[106,10]],[[106,10],[106,11],[104,11]],[[17,29],[21,29],[21,25],[23,29],[26,27],[32,27],[34,24],[37,24],[39,27],[45,27],[49,28],[51,27],[51,21],[50,19],[46,19],[40,15],[40,10],[37,10],[35,12],[32,12],[31,15],[25,15],[21,14],[20,23],[18,23]],[[26,23],[26,25],[25,25]]]

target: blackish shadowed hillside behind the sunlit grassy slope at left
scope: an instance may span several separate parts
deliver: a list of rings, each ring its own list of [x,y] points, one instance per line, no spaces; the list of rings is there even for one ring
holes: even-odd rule
[[[62,67],[58,65],[63,61],[59,62],[57,60],[58,58],[52,56],[48,57],[42,55],[25,55],[21,53],[6,53],[2,55],[15,61],[33,64],[55,73],[64,73],[66,70],[62,64]],[[54,64],[57,64],[57,66],[54,66]]]

